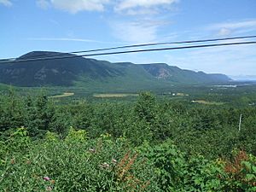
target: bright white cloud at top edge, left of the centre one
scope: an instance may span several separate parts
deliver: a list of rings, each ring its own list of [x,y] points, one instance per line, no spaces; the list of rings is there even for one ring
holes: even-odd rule
[[[76,14],[79,11],[103,11],[109,0],[38,0],[37,3],[41,8],[47,8],[50,4],[55,9]]]

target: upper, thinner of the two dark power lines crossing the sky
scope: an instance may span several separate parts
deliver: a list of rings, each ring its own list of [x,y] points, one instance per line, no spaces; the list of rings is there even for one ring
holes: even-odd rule
[[[96,52],[96,51],[102,51],[102,50],[127,49],[127,48],[137,48],[137,47],[146,47],[146,46],[148,47],[148,46],[167,45],[167,44],[195,44],[195,43],[225,41],[225,40],[244,39],[244,38],[256,38],[256,35],[231,37],[231,38],[208,38],[208,39],[199,39],[199,40],[173,41],[173,42],[162,42],[162,43],[151,43],[151,44],[131,44],[131,45],[102,48],[102,49],[88,49],[88,50],[78,50],[78,51],[64,52],[64,53],[55,53],[55,54],[51,54],[51,56],[57,56],[57,55],[63,55],[63,54],[90,53],[90,52]],[[44,57],[40,57],[40,58],[44,58]],[[9,58],[9,60],[15,60],[15,59],[17,58]]]

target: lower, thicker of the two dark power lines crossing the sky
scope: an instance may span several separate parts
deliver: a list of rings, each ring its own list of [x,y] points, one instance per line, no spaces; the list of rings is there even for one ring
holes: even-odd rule
[[[148,52],[148,51],[173,50],[173,49],[195,49],[195,48],[207,48],[207,47],[230,46],[230,45],[241,45],[241,44],[256,44],[256,41],[236,42],[236,43],[226,43],[226,44],[201,44],[201,45],[190,45],[190,46],[183,46],[183,47],[168,47],[168,48],[158,48],[158,49],[137,49],[137,50],[126,50],[126,51],[116,51],[116,52],[106,52],[106,53],[96,53],[96,54],[42,57],[42,58],[32,58],[32,59],[23,59],[23,60],[18,59],[15,61],[0,61],[0,63],[13,63],[13,62],[22,62],[22,61],[45,61],[45,60],[76,58],[76,57],[82,57],[82,56],[118,55],[118,54],[139,53],[139,52]]]

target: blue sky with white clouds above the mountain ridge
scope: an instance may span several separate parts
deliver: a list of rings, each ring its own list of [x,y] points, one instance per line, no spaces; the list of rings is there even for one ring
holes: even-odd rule
[[[256,35],[256,0],[0,0],[0,23],[0,58],[10,58],[34,50]],[[243,41],[249,40],[256,38]],[[221,43],[235,41],[241,40]],[[93,58],[256,79],[256,44]]]

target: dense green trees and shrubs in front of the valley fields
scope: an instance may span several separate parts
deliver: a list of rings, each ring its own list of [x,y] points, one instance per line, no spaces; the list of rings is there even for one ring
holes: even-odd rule
[[[241,127],[239,121],[241,115]],[[1,191],[256,191],[256,108],[0,96]]]

